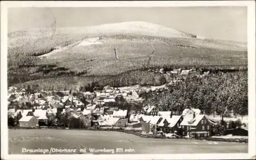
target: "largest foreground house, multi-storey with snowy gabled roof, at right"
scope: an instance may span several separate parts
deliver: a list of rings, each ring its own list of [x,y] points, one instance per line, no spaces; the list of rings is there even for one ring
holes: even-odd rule
[[[205,115],[185,115],[180,123],[182,136],[193,138],[210,136],[211,124]]]

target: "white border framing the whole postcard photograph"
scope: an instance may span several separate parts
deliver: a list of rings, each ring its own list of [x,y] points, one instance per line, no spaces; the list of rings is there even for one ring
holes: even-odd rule
[[[233,154],[124,154],[25,155],[8,154],[7,126],[7,12],[10,7],[247,7],[248,44],[248,153]],[[251,159],[255,150],[255,1],[5,1],[1,2],[1,158],[3,159]]]

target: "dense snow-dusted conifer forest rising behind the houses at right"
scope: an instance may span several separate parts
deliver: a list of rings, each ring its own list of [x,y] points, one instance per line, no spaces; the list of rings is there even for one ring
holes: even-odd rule
[[[161,111],[179,111],[198,108],[205,114],[228,116],[248,114],[247,72],[209,75],[202,79],[185,81],[161,93],[142,94],[144,103],[156,105]]]

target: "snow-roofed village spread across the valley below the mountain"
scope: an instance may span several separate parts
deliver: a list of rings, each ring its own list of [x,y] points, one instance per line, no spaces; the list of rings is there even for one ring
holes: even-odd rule
[[[155,71],[163,74],[163,69]],[[195,69],[176,69],[165,75],[179,74],[184,77],[190,73],[202,77],[207,76],[209,71],[201,74],[201,71]],[[150,89],[139,85],[120,88],[105,86],[101,91],[79,92],[79,95],[76,90],[40,90],[32,93],[30,88],[9,87],[8,125],[20,128],[122,128],[136,130],[141,135],[165,138],[216,136],[212,135],[212,128],[219,124],[220,119],[202,114],[199,109],[186,108],[180,114],[175,111],[159,111],[151,104],[143,105],[139,110],[126,108],[125,104],[142,103],[140,92],[168,89],[168,86],[182,82],[181,79]],[[231,129],[224,128],[222,136],[247,137],[247,124]]]

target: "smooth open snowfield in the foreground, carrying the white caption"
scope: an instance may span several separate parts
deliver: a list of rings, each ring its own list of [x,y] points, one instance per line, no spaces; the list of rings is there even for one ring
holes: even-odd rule
[[[57,130],[57,129],[10,129],[9,154],[173,154],[173,153],[246,153],[247,143],[214,142],[185,139],[148,139],[115,131]],[[53,149],[54,148],[54,149]],[[119,149],[117,149],[119,148]],[[74,149],[74,150],[68,150]],[[81,150],[80,150],[81,149]],[[84,149],[84,150],[82,150]],[[90,152],[93,149],[94,152]],[[24,150],[24,152],[22,151]],[[118,152],[117,152],[118,151]],[[49,152],[48,152],[49,153]]]

